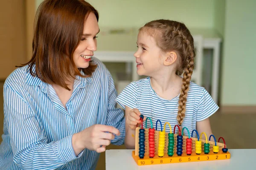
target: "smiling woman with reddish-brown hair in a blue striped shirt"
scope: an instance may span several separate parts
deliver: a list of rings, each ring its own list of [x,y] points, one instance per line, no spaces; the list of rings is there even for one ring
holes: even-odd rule
[[[36,20],[32,59],[4,84],[0,167],[95,169],[125,136],[111,74],[93,57],[99,14],[83,0],[45,0]]]

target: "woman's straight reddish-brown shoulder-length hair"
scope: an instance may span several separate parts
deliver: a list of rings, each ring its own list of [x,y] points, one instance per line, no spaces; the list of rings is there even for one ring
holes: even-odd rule
[[[96,69],[92,62],[87,68],[79,69],[73,61],[74,51],[83,34],[84,21],[90,12],[96,15],[98,21],[98,11],[84,0],[44,0],[41,3],[35,17],[32,59],[23,64],[29,64],[30,74],[68,90],[68,78],[92,75]],[[81,70],[85,76],[80,73]]]

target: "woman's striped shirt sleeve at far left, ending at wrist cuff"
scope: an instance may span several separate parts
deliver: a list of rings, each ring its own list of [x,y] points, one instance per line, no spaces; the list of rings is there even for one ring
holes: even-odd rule
[[[72,135],[47,143],[37,116],[18,92],[4,86],[4,114],[12,145],[13,161],[20,169],[56,169],[79,158]]]

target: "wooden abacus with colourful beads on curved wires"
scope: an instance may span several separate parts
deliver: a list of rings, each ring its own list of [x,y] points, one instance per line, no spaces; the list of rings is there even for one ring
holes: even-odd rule
[[[183,127],[180,130],[178,125],[179,134],[172,133],[171,125],[166,122],[164,128],[162,128],[162,123],[160,120],[161,131],[154,130],[152,121],[150,118],[151,128],[143,128],[143,123],[141,127],[136,128],[135,134],[135,150],[132,151],[132,156],[138,165],[151,165],[151,164],[170,164],[170,163],[182,163],[182,162],[193,162],[193,161],[212,161],[212,160],[223,160],[230,159],[230,153],[227,151],[225,140],[220,137],[218,142],[216,142],[215,136],[209,136],[214,138],[215,142],[207,140],[206,134],[203,132],[200,135],[196,130],[193,130],[191,137],[189,130]],[[143,121],[143,116],[141,115],[141,121]],[[156,128],[157,128],[156,122]],[[169,125],[170,132],[165,132],[165,126]],[[183,136],[183,131],[187,130],[189,136]],[[193,138],[193,133],[197,134],[197,138]],[[206,140],[201,139],[202,134],[205,135]],[[184,139],[186,143],[183,142]],[[220,139],[223,143],[219,143]],[[221,151],[219,152],[219,149]]]

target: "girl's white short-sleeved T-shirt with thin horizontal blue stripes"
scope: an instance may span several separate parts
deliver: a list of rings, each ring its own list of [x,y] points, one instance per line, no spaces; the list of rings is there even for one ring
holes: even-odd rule
[[[129,108],[137,108],[140,113],[146,117],[150,117],[153,127],[156,128],[156,122],[159,119],[164,126],[166,122],[173,128],[178,125],[177,112],[179,95],[171,100],[163,99],[158,96],[151,87],[150,78],[146,77],[137,82],[131,82],[119,94],[116,101],[122,108],[125,105]],[[190,82],[189,91],[186,102],[186,113],[182,123],[182,127],[187,127],[191,134],[196,129],[196,122],[202,121],[218,110],[218,105],[213,101],[209,93],[199,85]],[[143,123],[145,127],[145,122]],[[147,128],[151,127],[150,121],[147,121]],[[160,123],[157,123],[157,130],[160,130]],[[176,128],[177,129],[177,128]],[[177,130],[175,131],[177,132]],[[166,132],[169,132],[169,125],[166,125]],[[184,134],[188,133],[184,130]]]

